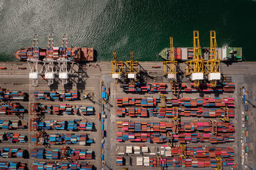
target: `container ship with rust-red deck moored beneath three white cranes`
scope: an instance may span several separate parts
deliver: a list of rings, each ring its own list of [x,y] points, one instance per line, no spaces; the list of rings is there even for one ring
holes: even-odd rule
[[[51,51],[48,48],[38,48],[38,50],[34,50],[33,47],[28,47],[17,50],[15,57],[21,61],[29,59],[44,60],[46,58],[58,60],[60,57],[65,57],[65,59],[70,61],[94,60],[93,48],[81,47],[67,47],[65,50],[63,50],[63,47],[53,47]]]

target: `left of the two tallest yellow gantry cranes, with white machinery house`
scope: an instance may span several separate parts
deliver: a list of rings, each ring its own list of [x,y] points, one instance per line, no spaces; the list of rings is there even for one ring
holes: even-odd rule
[[[199,43],[199,32],[194,31],[194,56],[193,60],[186,61],[186,76],[191,76],[195,87],[199,87],[200,80],[204,79],[204,60]]]

